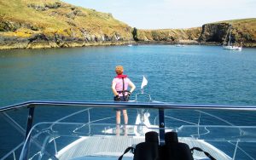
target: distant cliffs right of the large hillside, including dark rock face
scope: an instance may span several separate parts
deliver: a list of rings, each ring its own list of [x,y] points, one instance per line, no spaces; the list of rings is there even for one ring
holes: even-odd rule
[[[256,19],[227,20],[189,29],[133,30],[139,42],[195,43],[221,45],[228,41],[230,28],[231,43],[256,47]],[[226,39],[226,40],[225,40]]]

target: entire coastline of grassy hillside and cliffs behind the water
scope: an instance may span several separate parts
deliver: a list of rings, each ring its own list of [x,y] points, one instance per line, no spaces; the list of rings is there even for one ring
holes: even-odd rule
[[[140,30],[112,14],[60,0],[1,0],[0,49],[36,49],[138,43],[224,43],[256,46],[256,19],[229,20],[189,29]]]

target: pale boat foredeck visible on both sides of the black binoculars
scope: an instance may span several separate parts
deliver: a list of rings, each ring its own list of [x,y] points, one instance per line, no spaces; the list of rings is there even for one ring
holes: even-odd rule
[[[115,157],[118,159],[128,146],[137,145],[143,142],[142,136],[86,136],[74,141],[58,152],[56,157],[60,160],[83,159],[83,157]],[[191,138],[179,138],[180,142],[189,145],[189,148],[198,146],[204,151],[210,153],[216,159],[231,159],[224,152],[219,151],[214,146],[206,143],[204,140],[193,140]],[[126,153],[125,157],[133,157],[131,152]],[[195,159],[207,159],[203,152],[195,151]]]

